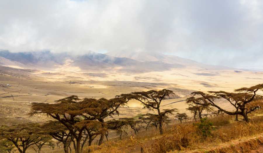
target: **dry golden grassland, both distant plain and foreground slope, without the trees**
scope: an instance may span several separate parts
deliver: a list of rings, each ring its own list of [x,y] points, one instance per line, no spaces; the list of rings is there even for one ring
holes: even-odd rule
[[[33,103],[56,104],[56,100],[76,95],[78,98],[112,99],[116,95],[131,92],[168,89],[174,92],[160,105],[161,111],[177,109],[169,115],[164,123],[164,134],[160,135],[153,125],[145,130],[145,124],[136,133],[131,128],[120,137],[116,130],[108,130],[108,140],[98,146],[99,136],[95,137],[90,147],[84,146],[83,152],[260,152],[262,145],[263,119],[262,109],[248,114],[250,123],[245,123],[239,115],[211,114],[203,112],[212,123],[211,134],[203,138],[197,132],[193,114],[187,110],[186,99],[196,91],[233,92],[240,87],[250,87],[262,83],[263,73],[255,71],[217,70],[208,71],[196,68],[174,68],[171,71],[146,73],[117,73],[114,71],[89,72],[53,70],[41,71],[1,66],[0,70],[0,123],[4,126],[39,123],[53,120],[46,114],[29,116]],[[8,84],[10,86],[8,86]],[[262,94],[262,92],[259,92]],[[218,99],[216,104],[227,111],[235,108],[225,100]],[[217,109],[214,109],[217,110]],[[119,118],[137,120],[142,114],[157,111],[143,109],[136,99],[130,99],[125,106],[118,108],[118,115],[112,114],[105,121]],[[187,118],[180,123],[175,117],[177,113],[185,113]],[[138,126],[136,125],[136,126]],[[137,127],[138,128],[138,127]],[[136,133],[136,135],[135,135]],[[121,140],[120,140],[121,138]],[[54,141],[55,142],[55,141]],[[73,144],[70,144],[74,152]],[[240,147],[241,146],[241,147]],[[261,148],[262,149],[262,148]],[[18,152],[16,149],[13,151]],[[35,152],[29,147],[27,152]],[[44,145],[41,152],[64,152],[63,145],[55,144],[54,149]]]

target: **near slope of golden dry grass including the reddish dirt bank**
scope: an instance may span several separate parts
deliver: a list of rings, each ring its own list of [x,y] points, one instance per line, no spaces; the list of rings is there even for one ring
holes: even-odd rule
[[[103,145],[94,144],[84,148],[84,152],[91,149],[94,153],[228,153],[228,152],[262,152],[263,148],[263,110],[250,114],[250,123],[245,123],[242,118],[235,121],[235,116],[219,115],[209,117],[214,129],[207,139],[202,139],[196,132],[194,121],[186,121],[182,124],[175,121],[165,126],[164,135],[160,135],[158,129],[141,130],[137,135],[127,135],[119,140],[113,137]],[[96,142],[95,142],[96,143]],[[28,150],[29,153],[34,152]],[[63,148],[43,148],[42,152],[63,153]],[[73,149],[72,149],[72,152]]]

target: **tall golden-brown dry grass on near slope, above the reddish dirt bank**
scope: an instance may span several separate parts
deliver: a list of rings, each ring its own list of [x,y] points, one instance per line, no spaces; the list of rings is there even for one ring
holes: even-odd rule
[[[140,131],[136,136],[127,136],[122,140],[116,137],[101,146],[86,147],[84,152],[88,152],[88,149],[94,153],[141,152],[141,148],[143,148],[144,153],[164,153],[207,149],[231,140],[246,139],[263,133],[262,114],[263,110],[260,110],[256,114],[250,115],[250,123],[245,123],[242,118],[240,121],[234,121],[235,117],[229,115],[208,118],[207,120],[213,123],[214,129],[205,140],[197,133],[197,129],[193,125],[195,122],[188,121],[165,127],[164,135],[160,135],[158,130],[151,128],[147,131]],[[44,149],[43,151],[63,153],[62,149],[53,151]]]

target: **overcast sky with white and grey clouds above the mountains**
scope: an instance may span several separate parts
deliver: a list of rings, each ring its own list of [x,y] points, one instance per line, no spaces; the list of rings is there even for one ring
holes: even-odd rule
[[[148,51],[263,69],[263,1],[0,0],[0,49]]]

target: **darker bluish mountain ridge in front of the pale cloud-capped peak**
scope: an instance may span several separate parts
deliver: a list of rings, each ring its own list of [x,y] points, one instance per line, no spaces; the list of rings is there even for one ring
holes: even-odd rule
[[[50,51],[19,52],[0,51],[0,65],[34,68],[41,70],[65,70],[72,67],[71,71],[111,71],[143,73],[149,71],[165,71],[171,68],[182,68],[184,65],[165,63],[162,61],[137,61],[126,57],[114,57],[89,51],[83,55],[68,53],[52,53]]]

